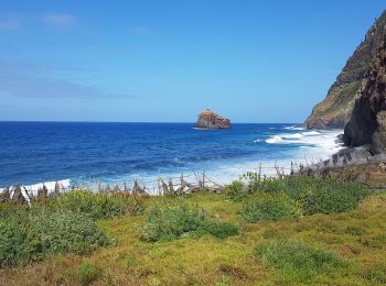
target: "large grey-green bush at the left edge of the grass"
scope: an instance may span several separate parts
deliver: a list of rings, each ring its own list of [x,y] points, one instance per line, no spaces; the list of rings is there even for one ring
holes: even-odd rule
[[[20,210],[21,211],[21,210]],[[51,254],[84,254],[112,241],[90,218],[76,212],[22,210],[0,222],[0,266],[40,261]]]

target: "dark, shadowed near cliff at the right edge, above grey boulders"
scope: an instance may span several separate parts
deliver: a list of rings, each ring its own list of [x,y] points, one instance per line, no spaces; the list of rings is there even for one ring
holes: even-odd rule
[[[344,129],[347,146],[369,144],[375,152],[386,152],[386,36],[378,48],[360,90],[353,113]]]

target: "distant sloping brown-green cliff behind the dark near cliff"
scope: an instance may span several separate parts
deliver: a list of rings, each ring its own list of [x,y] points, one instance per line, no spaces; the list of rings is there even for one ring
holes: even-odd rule
[[[376,56],[377,47],[386,35],[386,11],[368,30],[365,40],[349,58],[326,98],[317,105],[304,124],[308,129],[344,128],[349,122],[365,73]]]

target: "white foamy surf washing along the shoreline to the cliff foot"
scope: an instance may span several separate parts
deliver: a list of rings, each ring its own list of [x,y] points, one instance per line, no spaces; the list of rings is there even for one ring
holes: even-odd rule
[[[285,128],[286,130],[303,130],[298,127]],[[131,187],[132,182],[138,179],[141,186],[146,186],[148,191],[157,194],[158,179],[162,177],[167,182],[172,179],[173,184],[179,184],[180,176],[183,173],[184,178],[190,183],[197,183],[202,178],[202,173],[205,170],[206,176],[218,184],[229,184],[232,180],[237,179],[242,174],[246,172],[261,172],[262,175],[275,176],[278,170],[290,173],[291,165],[296,164],[311,164],[312,162],[319,162],[320,160],[326,160],[330,155],[336,153],[342,145],[337,142],[336,136],[341,134],[342,130],[334,131],[305,131],[299,133],[277,133],[267,139],[255,140],[255,143],[266,143],[269,145],[293,145],[294,147],[288,148],[280,153],[274,153],[269,156],[261,157],[260,155],[253,155],[251,157],[240,157],[233,160],[221,160],[201,163],[195,166],[195,170],[192,168],[176,167],[174,169],[163,169],[158,173],[137,173],[120,175],[119,177],[110,178],[95,178],[94,180],[87,179],[63,179],[58,182],[45,182],[33,185],[24,186],[29,194],[37,195],[37,190],[43,188],[43,185],[47,188],[49,193],[54,191],[55,184],[58,183],[64,189],[72,187],[72,184],[81,187],[89,187],[97,189],[99,179],[103,185],[109,184],[112,186],[127,185]],[[175,163],[179,163],[179,158],[174,158]],[[193,167],[193,166],[192,166]],[[3,189],[0,188],[0,193]]]

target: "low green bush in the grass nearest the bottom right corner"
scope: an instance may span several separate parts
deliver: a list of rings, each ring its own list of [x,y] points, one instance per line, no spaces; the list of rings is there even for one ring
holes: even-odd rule
[[[286,278],[297,282],[307,282],[347,265],[336,254],[293,241],[260,244],[254,254],[264,264],[282,271]]]

